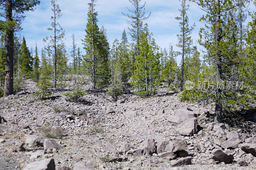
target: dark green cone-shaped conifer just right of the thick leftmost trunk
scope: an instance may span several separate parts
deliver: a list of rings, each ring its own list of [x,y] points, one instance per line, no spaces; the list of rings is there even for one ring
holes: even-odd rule
[[[23,36],[22,44],[21,44],[21,73],[25,77],[29,77],[32,72],[33,67],[33,57],[31,56],[30,51],[28,50],[25,37]]]

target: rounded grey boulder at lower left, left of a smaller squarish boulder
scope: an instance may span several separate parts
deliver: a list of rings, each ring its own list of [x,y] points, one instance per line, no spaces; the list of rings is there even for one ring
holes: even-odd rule
[[[25,139],[25,144],[23,145],[23,148],[25,148],[27,151],[41,150],[44,146],[45,139],[45,137],[29,135]]]

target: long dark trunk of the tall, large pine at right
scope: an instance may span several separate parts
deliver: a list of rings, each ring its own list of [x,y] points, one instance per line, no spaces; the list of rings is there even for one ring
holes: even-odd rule
[[[216,12],[216,31],[215,31],[215,39],[216,39],[216,51],[219,50],[219,42],[220,42],[220,0],[215,0],[215,4],[217,6]],[[221,58],[220,51],[216,54],[216,81],[221,80]],[[216,89],[216,104],[215,104],[215,118],[214,122],[221,123],[222,122],[222,102],[221,100],[221,89],[217,87]]]

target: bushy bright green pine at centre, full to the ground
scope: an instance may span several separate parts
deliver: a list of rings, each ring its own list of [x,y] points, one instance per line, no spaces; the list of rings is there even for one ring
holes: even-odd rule
[[[137,69],[132,76],[132,87],[137,90],[136,94],[149,96],[161,81],[160,56],[156,55],[157,50],[158,47],[146,24],[144,33],[140,36],[140,55],[135,63]]]

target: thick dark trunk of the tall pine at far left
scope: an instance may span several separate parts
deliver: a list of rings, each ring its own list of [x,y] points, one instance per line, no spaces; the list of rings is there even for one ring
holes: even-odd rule
[[[5,0],[6,22],[12,21],[12,0]],[[13,94],[13,28],[6,30],[4,97]]]

